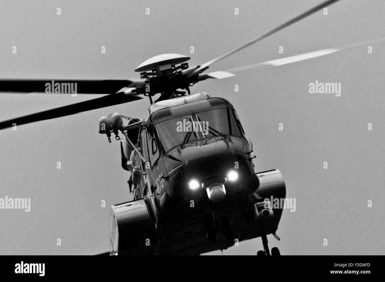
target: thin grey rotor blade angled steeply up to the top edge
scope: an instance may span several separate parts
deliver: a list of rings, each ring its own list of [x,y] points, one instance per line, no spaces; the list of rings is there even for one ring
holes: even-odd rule
[[[238,48],[235,48],[234,50],[228,52],[228,53],[225,53],[223,55],[221,55],[220,57],[217,57],[217,58],[214,58],[213,60],[207,62],[207,63],[204,63],[203,65],[201,65],[196,71],[192,72],[191,74],[189,74],[189,76],[191,75],[196,75],[196,74],[199,74],[199,73],[202,73],[204,72],[210,65],[212,65],[213,63],[216,63],[220,60],[223,60],[224,58],[226,57],[229,57],[230,55],[233,55],[234,53],[246,48],[246,47],[249,47],[250,45],[253,45],[254,43],[272,35],[273,33],[276,33],[278,31],[280,31],[281,29],[285,28],[285,27],[288,27],[289,25],[292,25],[293,23],[296,23],[298,22],[299,20],[317,12],[318,10],[321,10],[322,8],[325,8],[325,6],[327,5],[330,5],[330,4],[333,4],[335,2],[337,2],[339,0],[328,0],[328,1],[325,1],[313,8],[311,8],[310,10],[302,13],[301,15],[289,20],[288,22],[285,22],[283,24],[281,24],[280,26],[272,29],[272,30],[269,30],[268,32],[265,32],[263,33],[262,35],[259,35],[258,37],[254,38],[253,40],[250,40],[249,42],[247,42],[246,44],[242,45],[242,46],[239,46]]]

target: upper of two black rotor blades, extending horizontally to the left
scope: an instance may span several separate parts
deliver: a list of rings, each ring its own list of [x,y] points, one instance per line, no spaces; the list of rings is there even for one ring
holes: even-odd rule
[[[0,92],[45,92],[55,93],[85,93],[112,94],[123,87],[141,87],[146,79],[132,80],[48,80],[48,79],[0,79]],[[57,84],[59,83],[59,84]],[[68,84],[75,83],[75,84]],[[71,90],[73,92],[71,92]]]

